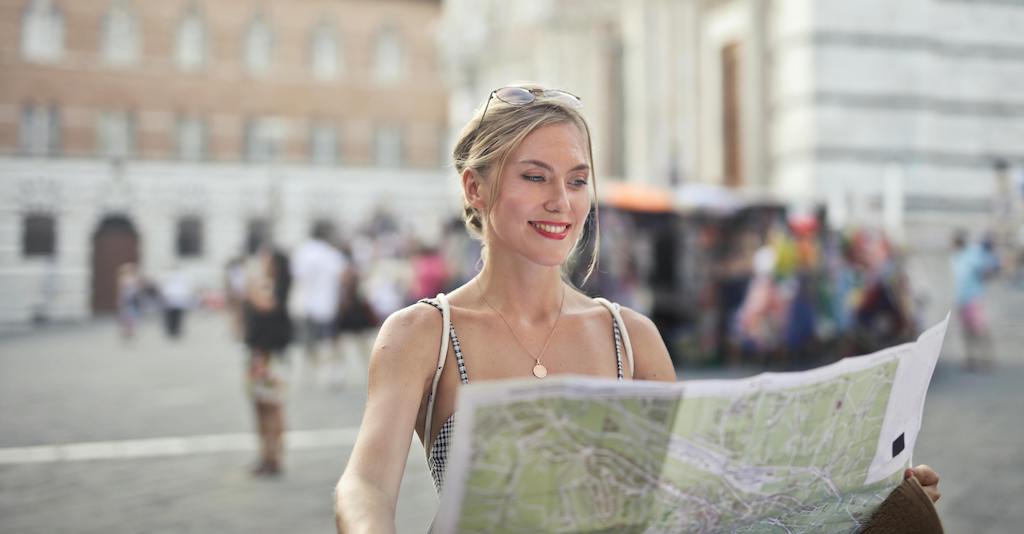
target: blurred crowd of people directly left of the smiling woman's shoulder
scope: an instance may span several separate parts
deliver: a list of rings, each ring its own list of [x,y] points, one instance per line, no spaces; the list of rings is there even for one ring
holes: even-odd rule
[[[259,259],[267,257],[279,259]],[[317,380],[340,383],[346,372],[366,372],[373,336],[384,319],[462,284],[475,274],[470,258],[477,257],[479,248],[461,223],[445,229],[432,244],[383,212],[348,237],[330,223],[314,223],[308,239],[290,253],[252,239],[247,254],[226,265],[224,300],[236,335],[248,345],[262,332],[278,331],[279,337],[301,344],[312,369],[330,364]],[[288,286],[279,296],[276,322],[254,321],[252,281],[260,279]]]

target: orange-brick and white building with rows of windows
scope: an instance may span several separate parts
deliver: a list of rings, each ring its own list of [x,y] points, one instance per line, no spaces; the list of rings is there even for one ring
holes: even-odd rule
[[[456,197],[435,1],[0,2],[0,323],[112,306],[111,270],[216,288],[386,206],[422,237]]]

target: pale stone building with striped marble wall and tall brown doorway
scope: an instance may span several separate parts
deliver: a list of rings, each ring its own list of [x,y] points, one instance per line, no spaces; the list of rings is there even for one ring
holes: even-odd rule
[[[827,206],[938,246],[950,221],[992,225],[995,162],[1024,162],[1020,2],[443,5],[453,123],[510,80],[566,88],[604,176]]]

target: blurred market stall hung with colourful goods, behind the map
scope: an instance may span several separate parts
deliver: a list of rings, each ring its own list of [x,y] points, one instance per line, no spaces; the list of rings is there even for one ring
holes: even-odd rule
[[[882,232],[824,213],[602,208],[592,290],[658,326],[677,366],[802,368],[912,338],[920,304]]]

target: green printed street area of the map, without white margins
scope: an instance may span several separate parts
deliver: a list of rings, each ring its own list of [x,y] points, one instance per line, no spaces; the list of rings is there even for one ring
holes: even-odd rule
[[[863,484],[897,365],[731,398],[478,406],[458,531],[855,531],[901,482]]]

